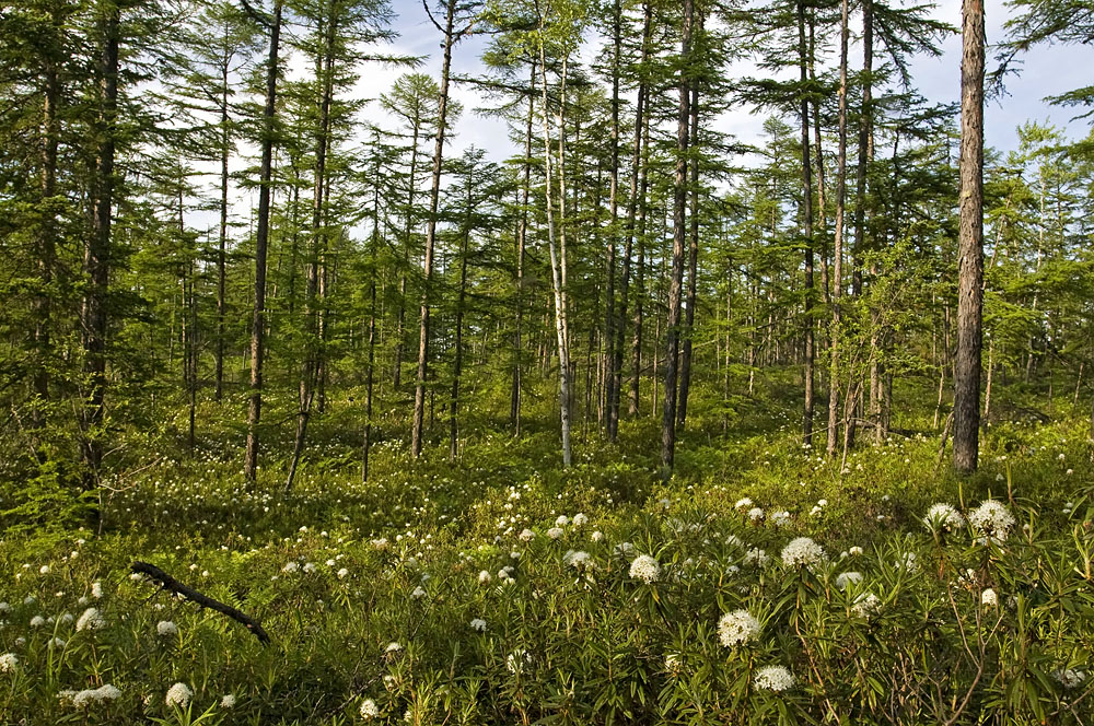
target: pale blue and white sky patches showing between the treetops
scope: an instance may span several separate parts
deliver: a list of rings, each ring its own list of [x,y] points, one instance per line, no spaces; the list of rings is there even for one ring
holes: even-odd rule
[[[910,4],[910,3],[909,3]],[[1003,23],[1010,15],[1010,10],[1000,0],[987,0],[986,23],[988,43],[998,43],[1004,38]],[[433,27],[420,2],[416,0],[393,0],[393,10],[397,14],[394,30],[398,39],[388,47],[395,54],[426,56],[419,70],[440,78],[441,34]],[[955,27],[961,26],[961,0],[941,0],[932,15]],[[861,23],[858,16],[851,17],[852,31]],[[838,31],[837,31],[838,32]],[[836,38],[829,38],[835,42]],[[950,36],[942,46],[941,57],[920,56],[912,60],[913,83],[918,91],[929,101],[936,103],[957,101],[961,73],[961,36]],[[586,42],[585,48],[595,48],[596,42]],[[453,73],[462,75],[478,74],[482,71],[479,60],[485,39],[473,37],[456,46],[453,52]],[[1074,109],[1054,107],[1043,101],[1045,96],[1062,93],[1091,83],[1091,62],[1089,49],[1068,46],[1040,46],[1025,54],[1022,73],[1010,77],[1008,81],[1009,96],[998,101],[989,101],[985,108],[985,138],[988,147],[1001,151],[1010,151],[1017,145],[1016,127],[1029,120],[1051,122],[1064,128],[1068,137],[1076,139],[1085,136],[1087,121],[1071,121]],[[988,65],[991,68],[992,51],[988,51]],[[852,65],[861,62],[861,50],[852,43],[850,50]],[[741,68],[730,68],[730,72]],[[382,68],[370,66],[354,87],[354,95],[363,98],[375,98],[387,91],[405,69]],[[456,86],[453,96],[464,106],[463,117],[455,124],[452,149],[459,154],[469,145],[487,151],[493,161],[501,161],[514,153],[508,132],[501,120],[484,117],[474,112],[475,108],[489,105],[489,102],[473,89]],[[365,116],[370,120],[384,124],[383,113],[376,104],[370,104]],[[733,109],[718,118],[714,126],[736,137],[738,141],[750,143],[760,139],[764,116],[752,114],[748,109]],[[385,126],[387,124],[384,124]]]

